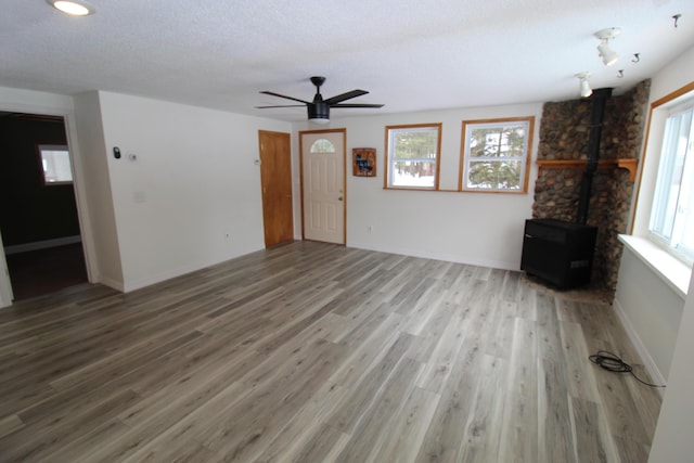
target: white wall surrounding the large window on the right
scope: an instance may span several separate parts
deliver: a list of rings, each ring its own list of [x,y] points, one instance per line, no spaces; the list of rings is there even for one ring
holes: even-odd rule
[[[694,63],[694,48],[653,76],[651,103],[694,81],[692,63]],[[648,146],[651,147],[653,143],[651,140]],[[653,149],[650,149],[646,152],[645,164],[642,156],[641,168],[646,172],[657,169],[658,153],[652,151]],[[653,182],[644,179],[639,190],[640,206],[647,207],[651,204],[652,190]],[[643,228],[647,222],[647,218],[644,217],[637,217],[634,220],[634,235],[643,235],[639,228]],[[624,324],[630,331],[637,348],[642,351],[642,357],[651,368],[652,374],[669,380],[674,339],[680,329],[684,306],[681,295],[625,247],[613,305],[625,320]],[[651,361],[653,363],[648,364]]]

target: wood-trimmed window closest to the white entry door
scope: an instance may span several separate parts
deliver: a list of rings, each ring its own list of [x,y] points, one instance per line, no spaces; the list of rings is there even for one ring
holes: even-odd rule
[[[438,190],[441,124],[386,127],[385,188]]]

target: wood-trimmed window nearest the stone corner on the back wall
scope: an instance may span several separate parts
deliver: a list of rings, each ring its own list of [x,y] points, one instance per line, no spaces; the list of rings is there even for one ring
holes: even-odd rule
[[[460,190],[527,193],[535,117],[463,121]]]

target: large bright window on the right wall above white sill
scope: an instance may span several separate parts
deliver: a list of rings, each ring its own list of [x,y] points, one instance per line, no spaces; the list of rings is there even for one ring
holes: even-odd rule
[[[665,121],[660,162],[648,231],[674,254],[694,259],[694,101],[670,110]]]

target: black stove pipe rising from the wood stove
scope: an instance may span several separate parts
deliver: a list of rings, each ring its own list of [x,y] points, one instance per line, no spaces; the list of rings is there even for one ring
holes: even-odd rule
[[[581,179],[581,192],[578,197],[578,217],[576,222],[586,224],[588,221],[588,207],[590,206],[590,192],[593,187],[593,175],[597,170],[600,157],[600,136],[603,130],[603,116],[605,103],[612,97],[612,89],[597,89],[593,91],[590,107],[590,136],[588,138],[588,163]]]

